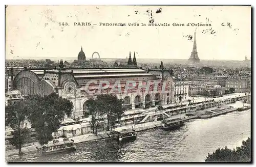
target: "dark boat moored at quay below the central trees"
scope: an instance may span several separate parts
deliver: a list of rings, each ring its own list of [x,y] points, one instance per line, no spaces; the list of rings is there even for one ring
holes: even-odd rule
[[[137,134],[134,129],[123,129],[122,131],[113,130],[111,134],[117,141],[136,140],[137,138]]]

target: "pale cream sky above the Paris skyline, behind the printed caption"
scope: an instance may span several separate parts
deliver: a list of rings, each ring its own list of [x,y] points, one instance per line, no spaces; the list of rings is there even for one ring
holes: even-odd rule
[[[153,20],[170,26],[148,26]],[[69,25],[62,26],[59,22]],[[75,26],[74,22],[91,25]],[[100,22],[126,23],[126,26],[100,26]],[[222,26],[228,22],[231,26]],[[128,23],[139,23],[139,26]],[[173,23],[185,26],[173,26]],[[211,26],[186,26],[187,23]],[[251,58],[251,7],[248,6],[63,5],[8,6],[6,59],[75,60],[81,46],[87,58],[97,51],[101,58],[121,59],[135,51],[137,59],[188,59],[194,40],[189,40],[189,35],[194,37],[195,31],[201,60],[244,60],[245,55]]]

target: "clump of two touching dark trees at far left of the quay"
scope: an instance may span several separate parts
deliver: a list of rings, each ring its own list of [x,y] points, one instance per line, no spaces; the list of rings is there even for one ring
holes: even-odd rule
[[[47,144],[53,140],[52,133],[57,131],[65,115],[70,115],[72,109],[72,102],[55,93],[44,97],[28,96],[6,106],[5,126],[13,129],[10,143],[22,154],[22,146],[33,128],[39,144]],[[31,128],[26,122],[30,123]]]

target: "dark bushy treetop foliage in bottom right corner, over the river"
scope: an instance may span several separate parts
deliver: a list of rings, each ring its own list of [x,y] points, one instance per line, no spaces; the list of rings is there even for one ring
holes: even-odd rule
[[[251,140],[250,137],[246,141],[242,142],[241,147],[237,147],[237,150],[230,150],[227,147],[225,149],[218,148],[212,154],[208,154],[205,161],[206,162],[244,162],[250,161],[251,157]]]

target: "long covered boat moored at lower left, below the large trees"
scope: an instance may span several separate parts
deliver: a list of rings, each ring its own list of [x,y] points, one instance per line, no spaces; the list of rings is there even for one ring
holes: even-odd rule
[[[49,155],[60,152],[75,151],[77,147],[74,145],[73,140],[65,138],[62,142],[54,141],[53,143],[49,143],[41,147],[36,147],[36,149],[43,155]]]

